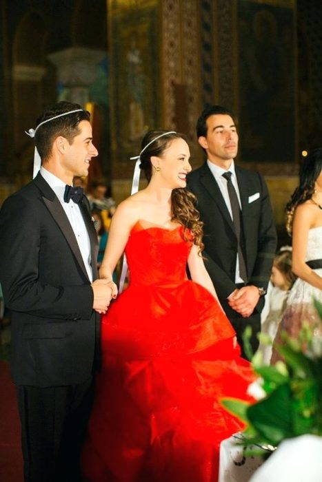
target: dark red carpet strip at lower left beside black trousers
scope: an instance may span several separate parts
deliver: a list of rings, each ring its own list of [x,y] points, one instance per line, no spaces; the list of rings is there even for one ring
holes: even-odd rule
[[[0,481],[22,482],[20,423],[10,365],[0,360]]]

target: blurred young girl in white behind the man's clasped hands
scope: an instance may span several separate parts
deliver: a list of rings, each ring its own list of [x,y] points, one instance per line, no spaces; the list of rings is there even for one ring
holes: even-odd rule
[[[282,247],[274,258],[268,294],[261,313],[261,333],[268,335],[271,340],[276,336],[295,279],[296,276],[292,273],[292,248]],[[270,364],[272,344],[261,343],[259,350],[263,355],[263,363]]]

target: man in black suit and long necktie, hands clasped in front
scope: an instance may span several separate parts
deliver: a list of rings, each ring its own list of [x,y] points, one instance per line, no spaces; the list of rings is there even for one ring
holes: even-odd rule
[[[234,165],[238,134],[232,114],[208,105],[197,121],[205,163],[188,176],[204,222],[205,265],[243,351],[245,327],[259,345],[261,309],[276,250],[268,189],[261,174]]]

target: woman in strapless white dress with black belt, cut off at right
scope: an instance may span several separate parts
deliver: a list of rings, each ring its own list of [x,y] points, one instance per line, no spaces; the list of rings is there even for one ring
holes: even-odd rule
[[[316,331],[321,319],[314,299],[322,302],[322,149],[314,149],[304,158],[296,187],[286,207],[286,229],[292,235],[292,271],[294,283],[274,346],[282,343],[281,333],[297,338],[303,322]],[[273,349],[272,363],[281,359]]]

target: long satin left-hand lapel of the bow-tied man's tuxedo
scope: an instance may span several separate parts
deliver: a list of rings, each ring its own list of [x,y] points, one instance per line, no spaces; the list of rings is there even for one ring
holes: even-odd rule
[[[86,271],[85,264],[81,256],[81,251],[79,249],[77,239],[74,235],[72,227],[70,226],[68,217],[66,216],[66,213],[63,210],[61,203],[59,202],[59,199],[55,195],[54,191],[52,191],[46,180],[43,179],[43,176],[41,176],[41,174],[37,174],[36,178],[34,178],[34,184],[37,185],[37,187],[41,190],[41,193],[43,194],[43,202],[48,208],[48,211],[50,211],[50,214],[52,215],[54,220],[57,222],[59,228],[61,229],[61,232],[65,236],[66,241],[70,246],[70,249],[72,250],[72,253],[74,254],[74,257],[77,259],[81,270],[83,271],[85,277],[88,279],[88,273]]]

